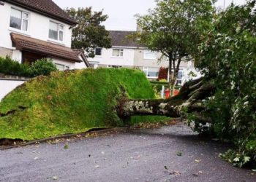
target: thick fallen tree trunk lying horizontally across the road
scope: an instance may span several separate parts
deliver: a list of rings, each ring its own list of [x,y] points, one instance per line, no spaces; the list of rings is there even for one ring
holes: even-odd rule
[[[124,93],[123,98],[119,100],[117,112],[121,118],[135,115],[161,115],[177,118],[186,112],[197,114],[198,119],[206,122],[209,119],[200,116],[200,112],[206,109],[202,100],[211,96],[213,92],[213,84],[197,79],[184,84],[178,95],[167,100],[129,100]]]

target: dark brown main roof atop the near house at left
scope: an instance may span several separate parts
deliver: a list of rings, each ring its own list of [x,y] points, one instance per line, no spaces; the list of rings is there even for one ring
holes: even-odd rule
[[[3,0],[2,0],[3,1]],[[53,19],[67,23],[69,25],[78,24],[67,12],[64,12],[52,0],[4,0],[10,4],[15,4],[19,7],[29,9],[32,12],[37,12],[41,15],[52,17]]]

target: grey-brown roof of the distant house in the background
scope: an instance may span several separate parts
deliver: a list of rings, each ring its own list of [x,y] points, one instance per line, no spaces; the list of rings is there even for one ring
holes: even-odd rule
[[[112,46],[140,47],[140,44],[127,38],[127,36],[129,36],[132,33],[135,33],[135,31],[109,31],[109,32],[110,32],[110,37],[112,39]]]

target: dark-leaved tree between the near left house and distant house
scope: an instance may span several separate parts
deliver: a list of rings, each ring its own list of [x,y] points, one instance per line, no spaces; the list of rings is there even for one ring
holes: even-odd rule
[[[111,47],[109,32],[101,25],[108,15],[103,15],[102,11],[92,12],[91,7],[70,8],[66,12],[78,22],[72,31],[72,49],[84,50],[90,58],[94,58],[95,48]]]

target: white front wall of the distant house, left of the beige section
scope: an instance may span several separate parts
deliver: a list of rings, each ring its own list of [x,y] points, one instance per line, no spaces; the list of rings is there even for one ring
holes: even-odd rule
[[[95,58],[89,58],[89,61],[98,62],[99,67],[105,66],[134,66],[135,50],[126,47],[113,47],[114,49],[123,49],[123,57],[113,57],[113,49],[102,49],[102,56],[96,56]]]

